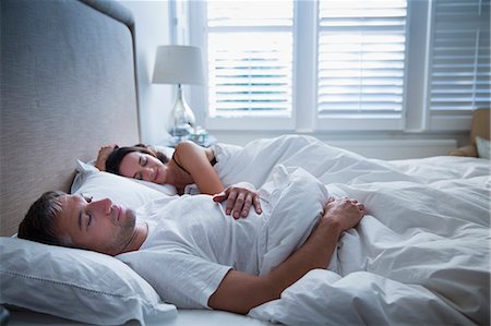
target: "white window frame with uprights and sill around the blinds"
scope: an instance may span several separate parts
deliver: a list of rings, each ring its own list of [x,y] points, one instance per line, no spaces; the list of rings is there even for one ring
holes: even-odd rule
[[[207,53],[206,2],[187,1],[188,41]],[[297,133],[357,132],[441,132],[464,131],[470,126],[470,110],[430,111],[429,79],[432,50],[432,1],[407,2],[406,68],[400,117],[371,113],[318,114],[318,1],[295,1],[291,117],[208,117],[207,79],[203,87],[188,87],[189,101],[197,124],[208,131],[277,131]],[[312,19],[314,17],[314,19]],[[177,23],[179,25],[179,22]],[[178,40],[179,41],[179,40]],[[417,46],[412,46],[417,45]],[[302,49],[298,51],[297,49]],[[205,69],[207,70],[207,59]],[[421,64],[422,62],[422,64]],[[185,90],[185,89],[184,89]]]

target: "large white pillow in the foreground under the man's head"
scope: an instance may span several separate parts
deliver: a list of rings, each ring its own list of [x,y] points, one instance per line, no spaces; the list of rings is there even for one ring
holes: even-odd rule
[[[177,316],[155,290],[115,257],[0,238],[0,303],[97,325],[142,325]]]

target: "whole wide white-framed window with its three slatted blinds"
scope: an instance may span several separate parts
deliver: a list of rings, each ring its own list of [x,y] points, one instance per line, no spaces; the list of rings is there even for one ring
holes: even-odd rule
[[[189,1],[190,40],[207,53],[205,128],[466,129],[490,106],[489,4]]]

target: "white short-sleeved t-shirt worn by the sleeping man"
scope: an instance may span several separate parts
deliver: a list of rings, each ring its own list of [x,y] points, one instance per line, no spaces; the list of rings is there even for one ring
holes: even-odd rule
[[[152,202],[137,210],[148,236],[137,252],[119,255],[160,297],[179,307],[207,307],[230,268],[258,274],[256,234],[263,218],[235,220],[208,195]],[[190,295],[191,294],[191,295]]]

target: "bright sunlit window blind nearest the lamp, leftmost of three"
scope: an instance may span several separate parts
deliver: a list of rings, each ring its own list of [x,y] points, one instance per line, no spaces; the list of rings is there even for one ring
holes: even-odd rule
[[[208,114],[290,116],[294,1],[206,4]]]

